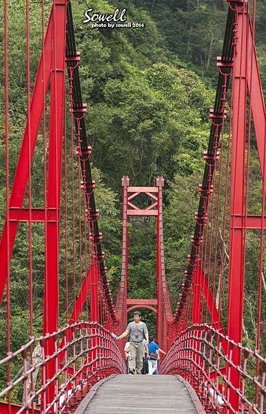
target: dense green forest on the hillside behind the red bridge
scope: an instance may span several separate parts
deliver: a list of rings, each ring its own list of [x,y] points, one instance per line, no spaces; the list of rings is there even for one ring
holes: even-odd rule
[[[266,3],[257,2],[256,50],[263,89],[266,90]],[[126,9],[127,21],[144,23],[141,28],[90,28],[83,23],[87,8],[95,12]],[[92,172],[96,180],[99,228],[114,298],[121,275],[121,177],[132,185],[153,186],[158,175],[165,179],[164,232],[166,275],[173,309],[176,308],[194,232],[198,208],[198,184],[203,175],[203,151],[209,139],[209,108],[215,97],[225,22],[225,0],[82,0],[72,1],[76,48],[81,52],[80,79],[88,141],[92,146]],[[10,99],[10,184],[16,168],[21,137],[27,117],[25,68],[25,5],[9,6],[9,99]],[[48,17],[50,3],[45,3]],[[3,8],[1,8],[3,21]],[[30,1],[30,73],[32,86],[41,50],[39,1]],[[0,28],[3,39],[3,26]],[[3,61],[3,47],[0,50]],[[0,100],[4,101],[4,68],[0,67]],[[0,225],[5,218],[5,130],[0,118]],[[43,166],[41,132],[32,165],[34,206],[42,206]],[[254,147],[254,150],[256,148]],[[258,166],[251,168],[258,179]],[[69,189],[69,194],[70,194]],[[25,205],[27,204],[25,197]],[[69,196],[69,202],[71,195]],[[144,201],[143,201],[144,202]],[[79,226],[76,219],[76,226]],[[64,231],[62,230],[62,237]],[[28,341],[28,228],[19,227],[11,263],[11,348]],[[42,329],[43,226],[33,225],[34,334]],[[77,233],[78,234],[78,233]],[[128,297],[156,297],[156,220],[130,219]],[[248,241],[252,256],[254,240]],[[78,240],[76,240],[78,248]],[[71,257],[70,257],[71,259]],[[254,255],[254,260],[256,259]],[[63,259],[60,264],[63,272]],[[78,266],[76,266],[78,268]],[[257,284],[256,267],[249,266],[247,284]],[[71,277],[71,275],[70,275]],[[63,286],[63,277],[61,284]],[[265,286],[264,286],[265,288]],[[265,290],[264,290],[265,293]],[[6,349],[5,298],[0,308],[0,355]],[[245,337],[256,344],[256,297],[251,288],[245,298]],[[62,314],[63,314],[63,298]],[[265,302],[263,304],[265,308]],[[72,302],[70,299],[70,309]],[[143,320],[155,333],[154,315]],[[265,317],[264,317],[265,320]]]

